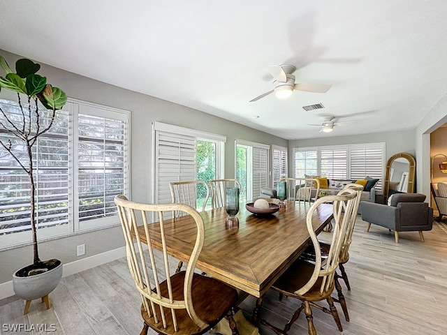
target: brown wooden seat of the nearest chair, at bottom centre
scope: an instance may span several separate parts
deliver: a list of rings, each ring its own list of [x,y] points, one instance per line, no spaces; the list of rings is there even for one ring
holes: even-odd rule
[[[171,276],[171,285],[173,288],[173,299],[183,300],[183,286],[184,286],[185,271],[180,271]],[[167,282],[161,283],[162,295],[167,296],[168,288]],[[237,290],[230,286],[221,283],[217,279],[202,276],[201,274],[193,275],[192,282],[192,299],[194,309],[198,317],[208,323],[207,329],[211,329],[219,322],[226,312],[235,305],[237,301]],[[170,309],[164,308],[166,315],[170,318]],[[159,322],[154,322],[154,318],[150,317],[144,306],[141,306],[141,314],[147,325],[160,334],[166,335],[182,335],[182,334],[203,334],[207,329],[201,329],[196,323],[189,318],[186,309],[176,309],[175,315],[177,317],[179,331],[175,332],[173,325],[168,324],[167,328],[163,328],[161,322],[159,307],[156,307],[156,313],[159,315]]]

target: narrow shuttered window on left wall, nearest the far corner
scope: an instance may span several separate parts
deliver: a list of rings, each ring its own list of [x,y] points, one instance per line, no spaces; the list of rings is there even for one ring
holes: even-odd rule
[[[268,151],[265,144],[236,140],[236,178],[242,190],[240,200],[261,196],[261,188],[268,186]]]

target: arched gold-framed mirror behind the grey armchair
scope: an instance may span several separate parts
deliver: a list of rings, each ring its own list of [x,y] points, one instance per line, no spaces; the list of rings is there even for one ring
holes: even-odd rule
[[[406,152],[395,154],[386,163],[383,203],[394,193],[413,193],[416,174],[416,161]]]

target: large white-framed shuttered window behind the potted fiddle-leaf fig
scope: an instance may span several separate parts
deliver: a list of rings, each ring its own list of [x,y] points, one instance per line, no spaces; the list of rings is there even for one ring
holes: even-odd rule
[[[17,103],[0,101],[11,117]],[[22,146],[11,138],[17,155]],[[119,223],[113,197],[129,193],[129,112],[69,100],[33,147],[40,241]],[[29,243],[29,181],[0,147],[0,245]],[[44,229],[45,228],[45,229]]]

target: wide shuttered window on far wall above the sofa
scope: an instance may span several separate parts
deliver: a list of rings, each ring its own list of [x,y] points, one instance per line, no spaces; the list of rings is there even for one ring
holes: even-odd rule
[[[334,147],[293,148],[294,177],[305,174],[331,179],[380,179],[381,191],[385,161],[385,143],[349,144]]]

